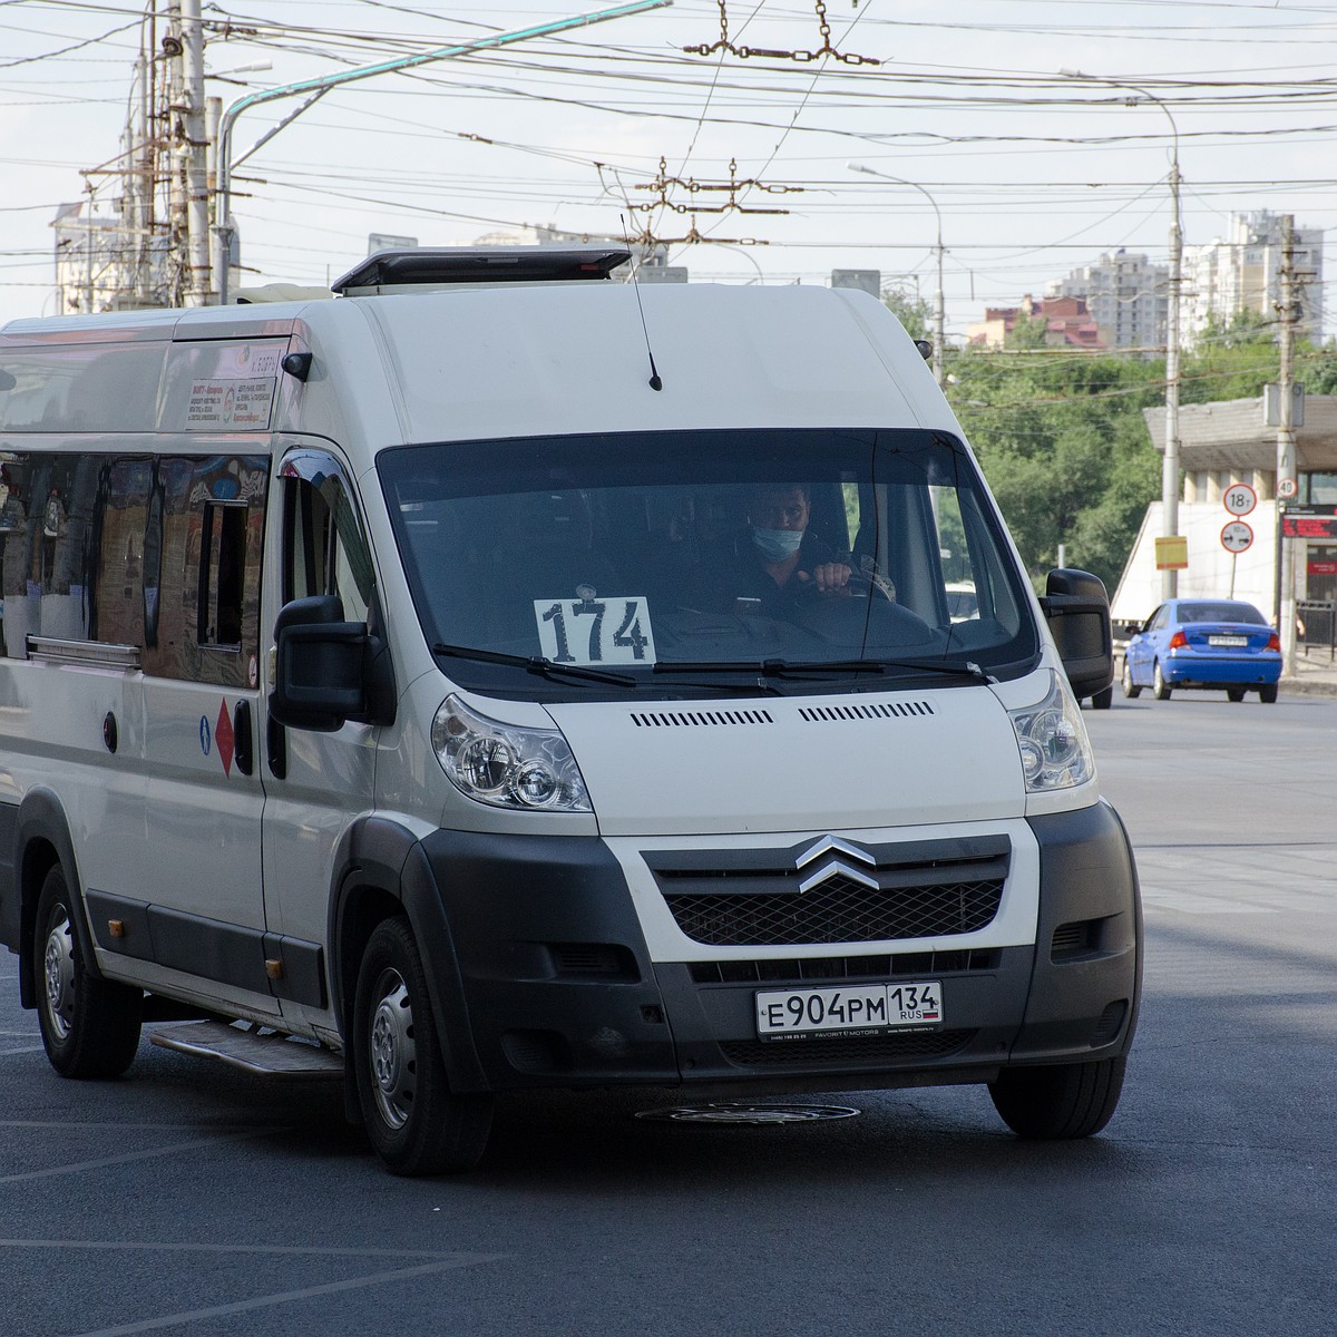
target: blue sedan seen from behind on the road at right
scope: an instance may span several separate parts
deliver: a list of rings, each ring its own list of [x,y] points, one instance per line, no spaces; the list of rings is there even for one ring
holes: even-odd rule
[[[1277,699],[1281,640],[1267,619],[1238,599],[1169,599],[1128,642],[1123,655],[1123,694],[1150,687],[1169,701],[1175,687],[1225,691],[1243,701],[1257,691]]]

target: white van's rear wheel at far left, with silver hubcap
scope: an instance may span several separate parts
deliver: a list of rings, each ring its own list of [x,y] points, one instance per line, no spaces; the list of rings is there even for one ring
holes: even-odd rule
[[[56,864],[41,884],[32,943],[41,1044],[64,1078],[119,1078],[139,1048],[144,996],[88,973],[74,932],[72,904],[64,870]]]

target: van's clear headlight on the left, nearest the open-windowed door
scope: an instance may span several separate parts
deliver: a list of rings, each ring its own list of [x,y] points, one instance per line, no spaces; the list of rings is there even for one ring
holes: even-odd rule
[[[588,813],[590,796],[556,729],[520,729],[447,697],[432,721],[441,769],[469,798],[497,808]]]

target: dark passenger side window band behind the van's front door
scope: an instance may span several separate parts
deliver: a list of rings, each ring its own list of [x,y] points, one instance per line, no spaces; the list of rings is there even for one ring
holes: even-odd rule
[[[266,456],[4,456],[4,652],[131,646],[146,674],[253,686],[267,479]]]

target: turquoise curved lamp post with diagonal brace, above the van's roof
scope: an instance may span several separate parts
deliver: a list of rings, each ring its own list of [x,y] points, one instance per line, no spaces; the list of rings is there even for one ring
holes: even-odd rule
[[[352,83],[354,79],[370,79],[373,75],[392,74],[398,70],[413,70],[425,66],[432,60],[448,60],[452,56],[472,56],[480,51],[492,51],[496,47],[508,47],[513,41],[524,41],[529,37],[550,37],[571,28],[587,28],[608,19],[622,19],[634,13],[644,13],[647,9],[662,9],[671,5],[673,0],[632,0],[631,4],[620,4],[612,9],[599,9],[594,13],[576,15],[571,19],[559,19],[554,23],[540,23],[532,28],[523,28],[519,32],[499,32],[489,37],[477,37],[473,41],[463,41],[452,47],[439,47],[436,51],[425,51],[417,56],[400,56],[394,60],[381,60],[374,66],[358,66],[356,70],[341,70],[338,74],[322,75],[317,79],[302,79],[298,83],[282,84],[278,88],[266,88],[261,92],[247,94],[238,98],[223,111],[218,123],[218,203],[214,217],[214,243],[215,269],[218,271],[218,303],[227,305],[227,278],[231,263],[233,225],[231,213],[231,171],[233,162],[233,124],[247,107],[257,107],[262,102],[273,102],[275,98],[294,98],[298,94],[310,94],[297,111],[285,116],[277,126],[265,134],[259,143],[253,144],[242,158],[249,158],[259,144],[271,139],[289,122],[295,120],[308,107],[322,98],[330,88]],[[237,159],[241,162],[241,158]]]

